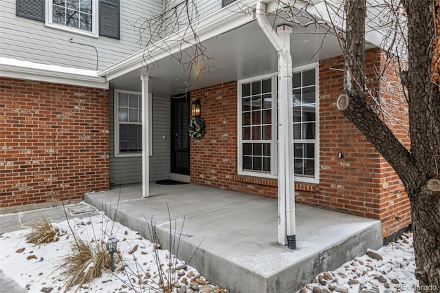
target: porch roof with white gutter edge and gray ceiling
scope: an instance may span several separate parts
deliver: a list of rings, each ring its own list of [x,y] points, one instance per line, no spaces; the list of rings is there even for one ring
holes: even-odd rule
[[[247,3],[249,7],[256,3],[254,0],[240,2]],[[318,3],[317,10],[319,5],[322,6],[322,3]],[[267,7],[274,9],[273,5]],[[197,24],[197,35],[208,48],[213,65],[210,70],[201,72],[197,83],[191,84],[189,90],[277,72],[276,50],[267,40],[252,13],[244,13],[242,9],[243,6],[232,4]],[[274,28],[285,23],[281,19],[269,19]],[[293,28],[290,46],[294,67],[341,55],[338,39],[326,33],[323,28],[313,25],[304,28],[293,23],[287,24]],[[369,42],[377,44],[377,34],[370,33],[369,36]],[[159,49],[163,47],[160,42],[163,41],[153,46],[156,49],[151,50],[151,59],[145,60],[144,50],[141,50],[101,70],[98,75],[105,76],[117,89],[140,91],[142,67],[148,64],[146,75],[149,76],[150,93],[170,96],[187,91],[188,76],[193,77],[193,73],[187,72],[186,68],[170,58],[168,50],[166,52]],[[167,46],[171,52],[177,52],[182,46],[183,50],[188,52],[188,45],[180,41],[167,43]]]

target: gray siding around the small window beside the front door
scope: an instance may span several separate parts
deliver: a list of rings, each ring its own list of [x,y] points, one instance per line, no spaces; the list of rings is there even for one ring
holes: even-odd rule
[[[142,157],[115,158],[114,90],[110,89],[110,182],[142,182]],[[153,96],[153,155],[150,157],[150,180],[168,179],[170,173],[170,98]],[[165,140],[163,139],[165,135]]]

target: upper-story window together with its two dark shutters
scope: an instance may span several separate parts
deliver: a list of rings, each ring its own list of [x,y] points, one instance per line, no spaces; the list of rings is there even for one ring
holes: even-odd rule
[[[120,39],[120,0],[17,0],[16,14],[58,30]]]

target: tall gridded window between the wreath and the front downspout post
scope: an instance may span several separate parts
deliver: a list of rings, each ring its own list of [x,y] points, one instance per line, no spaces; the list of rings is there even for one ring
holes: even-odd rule
[[[276,174],[274,135],[276,79],[274,76],[239,84],[239,173]]]

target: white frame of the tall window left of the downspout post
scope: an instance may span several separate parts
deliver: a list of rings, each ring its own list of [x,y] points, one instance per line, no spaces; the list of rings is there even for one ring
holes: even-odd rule
[[[252,81],[263,80],[263,79],[272,79],[272,140],[270,146],[270,172],[264,171],[243,171],[243,140],[242,140],[242,86],[243,83],[252,83]],[[277,91],[277,74],[266,74],[263,76],[256,76],[254,78],[247,78],[243,80],[239,80],[237,83],[237,135],[238,135],[238,143],[237,143],[237,153],[238,153],[238,164],[237,164],[237,173],[239,175],[247,175],[254,177],[265,177],[265,178],[273,178],[275,179],[278,175],[278,145],[276,143],[277,140],[277,100],[278,100],[278,91]]]

